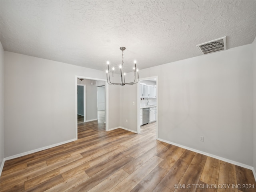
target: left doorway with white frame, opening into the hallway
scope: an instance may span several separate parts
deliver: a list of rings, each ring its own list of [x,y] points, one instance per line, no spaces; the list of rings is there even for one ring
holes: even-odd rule
[[[101,124],[108,130],[108,86],[106,80],[76,76],[76,136],[78,127]],[[78,126],[79,125],[79,126]]]

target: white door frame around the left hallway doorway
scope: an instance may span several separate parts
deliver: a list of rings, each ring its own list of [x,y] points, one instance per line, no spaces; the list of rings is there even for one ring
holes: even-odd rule
[[[104,81],[105,82],[105,122],[106,122],[106,131],[108,131],[108,83],[106,79],[100,79],[100,78],[92,78],[92,77],[86,77],[86,76],[75,76],[75,134],[76,134],[76,140],[78,139],[78,130],[77,130],[77,78],[82,79],[88,79],[88,80],[98,80],[98,81]]]

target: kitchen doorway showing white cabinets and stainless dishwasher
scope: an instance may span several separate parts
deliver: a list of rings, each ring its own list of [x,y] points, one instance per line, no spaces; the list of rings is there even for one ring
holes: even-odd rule
[[[143,110],[147,109],[147,119],[143,120]],[[145,125],[156,125],[158,138],[158,76],[140,78],[137,84],[137,132]],[[145,117],[144,117],[145,118]]]

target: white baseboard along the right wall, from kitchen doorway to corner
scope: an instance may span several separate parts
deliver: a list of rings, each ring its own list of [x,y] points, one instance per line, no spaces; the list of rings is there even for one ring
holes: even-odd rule
[[[240,162],[236,162],[236,161],[233,161],[233,160],[230,160],[230,159],[226,159],[226,158],[223,158],[223,157],[220,157],[220,156],[216,156],[216,155],[213,155],[213,154],[210,154],[210,153],[206,153],[206,152],[203,152],[203,151],[200,151],[200,150],[196,150],[196,149],[193,149],[193,148],[190,148],[190,147],[186,147],[186,146],[183,146],[183,145],[180,145],[180,144],[177,144],[177,143],[174,143],[174,142],[170,142],[170,141],[167,141],[167,140],[164,140],[164,139],[157,138],[157,140],[168,143],[168,144],[171,144],[171,145],[175,145],[175,146],[178,146],[178,147],[190,150],[190,151],[194,151],[196,153],[200,153],[200,154],[203,154],[203,155],[206,155],[206,156],[218,159],[218,160],[222,160],[224,162],[228,162],[228,163],[240,166],[240,167],[250,169],[250,170],[252,170],[252,172],[254,174],[254,178],[256,180],[256,173],[255,173],[255,170],[252,166],[249,166],[249,165],[246,165],[246,164],[243,164],[243,163],[240,163]]]

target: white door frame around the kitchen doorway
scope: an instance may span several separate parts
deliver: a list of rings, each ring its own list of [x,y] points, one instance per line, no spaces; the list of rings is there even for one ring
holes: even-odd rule
[[[158,76],[140,78],[137,83],[137,133],[140,133],[140,81],[156,79],[156,107],[158,109]],[[156,138],[158,138],[158,112],[156,113]]]

